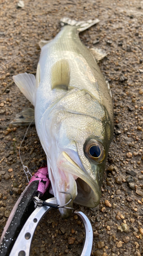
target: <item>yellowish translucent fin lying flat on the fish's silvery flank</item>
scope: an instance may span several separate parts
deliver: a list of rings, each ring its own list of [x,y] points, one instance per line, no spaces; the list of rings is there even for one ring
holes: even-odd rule
[[[66,59],[54,63],[51,68],[51,89],[68,90],[70,83],[70,65]]]

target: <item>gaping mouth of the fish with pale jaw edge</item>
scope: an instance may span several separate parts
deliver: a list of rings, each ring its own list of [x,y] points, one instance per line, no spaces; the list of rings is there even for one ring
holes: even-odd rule
[[[66,191],[69,192],[72,197],[70,207],[72,207],[73,202],[87,207],[96,207],[99,204],[101,188],[97,180],[94,180],[64,151],[61,152],[56,165],[62,172],[68,173],[70,177],[72,176],[72,184],[70,190],[68,190],[69,187],[67,187]],[[66,198],[66,203],[68,200],[69,197]],[[61,211],[62,215],[68,214],[68,212],[65,210],[66,209],[63,209]]]

